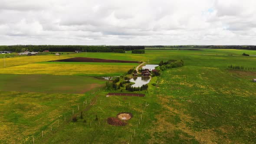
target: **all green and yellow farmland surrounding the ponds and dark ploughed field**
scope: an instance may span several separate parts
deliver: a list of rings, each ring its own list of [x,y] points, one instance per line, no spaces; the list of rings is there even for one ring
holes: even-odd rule
[[[10,66],[0,68],[0,143],[31,144],[32,136],[36,143],[45,144],[128,144],[131,137],[135,144],[255,143],[256,83],[252,79],[256,78],[256,72],[228,69],[230,64],[256,67],[256,57],[242,56],[243,52],[256,55],[256,51],[235,49],[65,55],[149,64],[168,59],[184,60],[183,67],[167,69],[153,77],[148,91],[144,92],[146,97],[106,97],[110,91],[102,86],[104,81],[73,76],[122,75],[138,64],[46,62],[48,56],[33,56],[30,62],[26,61],[26,56],[7,58]],[[16,64],[17,60],[21,62]],[[156,86],[152,85],[154,82]],[[85,94],[75,94],[78,92],[74,89],[88,88],[93,83],[98,85]],[[60,93],[59,88],[62,89]],[[83,101],[87,104],[83,105]],[[146,102],[149,105],[144,108]],[[75,123],[71,120],[73,109],[78,115]],[[81,111],[83,119],[79,118]],[[142,111],[142,121],[138,124]],[[124,127],[109,125],[107,118],[119,112],[131,112],[133,118]]]

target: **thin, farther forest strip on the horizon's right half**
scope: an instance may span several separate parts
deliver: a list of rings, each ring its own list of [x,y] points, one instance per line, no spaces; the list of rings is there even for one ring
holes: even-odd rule
[[[208,48],[208,49],[249,49],[256,50],[256,46],[213,46],[213,45],[177,45],[177,46],[145,46],[147,48]]]

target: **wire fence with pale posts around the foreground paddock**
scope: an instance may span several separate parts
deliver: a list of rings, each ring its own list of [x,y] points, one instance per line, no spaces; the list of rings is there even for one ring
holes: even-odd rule
[[[77,108],[70,108],[70,111],[67,111],[64,115],[59,115],[54,121],[52,121],[50,124],[44,126],[41,131],[37,131],[34,135],[27,137],[23,142],[26,143],[30,143],[30,141],[34,144],[36,142],[36,140],[38,139],[40,141],[40,139],[46,137],[50,132],[55,131],[59,128],[61,128],[61,124],[63,123],[69,123],[72,121],[72,117],[75,115],[76,117],[80,117],[81,112],[86,110],[87,108],[89,109],[92,106],[95,105],[111,105],[111,106],[131,106],[132,103],[131,101],[119,101],[119,100],[95,100],[95,99],[86,99],[85,101],[83,101],[82,103],[77,104]],[[138,129],[140,124],[142,123],[142,121],[144,120],[144,115],[146,113],[146,108],[149,106],[149,104],[147,103],[147,101],[145,101],[145,104],[141,104],[143,105],[143,110],[140,114],[140,118],[138,118],[138,122],[137,124],[134,126],[134,128],[132,128],[132,130],[134,130],[131,134],[131,139],[128,140],[130,143],[132,141],[135,141],[135,136],[138,136]],[[107,124],[106,120],[102,120],[100,118],[98,118],[97,121],[87,121],[87,126],[89,128],[92,128],[94,126],[100,126],[103,124]]]

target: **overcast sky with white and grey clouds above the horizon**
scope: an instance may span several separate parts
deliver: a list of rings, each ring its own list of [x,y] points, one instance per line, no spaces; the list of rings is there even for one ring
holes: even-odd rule
[[[0,45],[256,45],[256,0],[0,0]]]

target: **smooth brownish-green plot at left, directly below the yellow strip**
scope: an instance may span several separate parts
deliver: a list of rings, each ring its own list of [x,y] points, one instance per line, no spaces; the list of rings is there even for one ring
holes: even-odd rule
[[[81,94],[105,81],[86,76],[0,74],[0,91]]]

